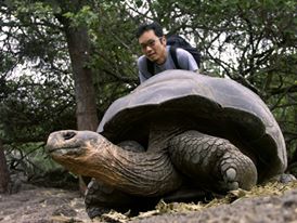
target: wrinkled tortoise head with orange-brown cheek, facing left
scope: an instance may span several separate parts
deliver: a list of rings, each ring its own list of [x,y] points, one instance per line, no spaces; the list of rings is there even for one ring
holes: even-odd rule
[[[89,175],[88,169],[100,169],[91,167],[101,166],[106,159],[108,145],[96,132],[62,130],[50,134],[46,148],[53,160],[69,171]]]

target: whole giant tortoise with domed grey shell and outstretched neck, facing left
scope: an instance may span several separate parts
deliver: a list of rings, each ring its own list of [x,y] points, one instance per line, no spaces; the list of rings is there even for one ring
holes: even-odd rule
[[[106,195],[94,202],[106,207],[170,196],[185,182],[249,189],[287,165],[283,134],[259,96],[186,70],[164,71],[115,101],[98,132],[54,132],[47,147],[68,170],[94,178]]]

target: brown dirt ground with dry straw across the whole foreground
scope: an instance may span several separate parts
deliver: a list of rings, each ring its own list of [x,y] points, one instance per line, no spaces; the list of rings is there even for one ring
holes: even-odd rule
[[[277,191],[279,189],[279,191]],[[257,222],[297,223],[296,187],[279,187],[271,195],[245,196],[231,204],[199,209],[197,206],[160,204],[156,210],[129,219],[124,214],[111,213],[93,222]],[[262,192],[260,192],[262,194]],[[83,199],[78,192],[37,187],[22,184],[21,191],[12,195],[0,195],[1,223],[66,223],[92,222],[85,212]]]

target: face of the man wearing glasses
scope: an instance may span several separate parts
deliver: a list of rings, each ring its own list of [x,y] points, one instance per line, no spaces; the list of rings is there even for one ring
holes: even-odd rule
[[[154,30],[144,31],[139,43],[143,54],[152,62],[163,64],[166,61],[166,39],[157,37]]]

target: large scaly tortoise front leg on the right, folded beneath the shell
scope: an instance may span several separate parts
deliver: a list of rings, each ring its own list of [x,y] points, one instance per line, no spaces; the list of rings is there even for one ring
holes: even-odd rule
[[[228,192],[257,183],[254,162],[228,140],[188,131],[169,142],[169,154],[178,170],[204,187]]]

